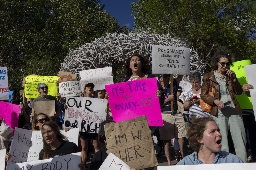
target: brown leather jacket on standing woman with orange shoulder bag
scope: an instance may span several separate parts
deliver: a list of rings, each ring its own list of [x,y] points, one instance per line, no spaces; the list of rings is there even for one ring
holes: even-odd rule
[[[213,101],[215,99],[219,99],[219,97],[220,97],[220,94],[219,94],[220,93],[220,85],[218,84],[217,80],[215,79],[215,76],[213,74],[213,70],[211,72],[212,72],[211,77],[209,77],[209,73],[206,73],[203,76],[203,84],[202,84],[202,87],[201,87],[201,99],[205,103],[213,106],[211,115],[216,115],[217,111],[218,111],[218,106],[215,105],[213,103]],[[210,86],[210,80],[212,80],[212,87],[215,88],[214,96],[211,96],[211,95],[208,94],[209,86]],[[236,111],[237,111],[238,115],[240,115],[242,113],[242,110],[241,110],[241,107],[240,107],[238,101],[236,100],[235,94],[240,95],[240,94],[243,93],[242,86],[241,86],[241,84],[239,83],[238,80],[233,82],[228,76],[226,76],[226,86],[227,86],[227,89],[228,89],[229,94],[231,96],[231,99],[232,99],[232,101],[233,101],[233,103],[236,107]]]

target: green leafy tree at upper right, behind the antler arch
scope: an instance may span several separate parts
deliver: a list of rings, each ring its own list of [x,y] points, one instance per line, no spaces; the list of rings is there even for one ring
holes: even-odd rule
[[[131,8],[138,31],[172,32],[204,62],[220,46],[227,46],[236,60],[256,62],[254,0],[138,0]]]

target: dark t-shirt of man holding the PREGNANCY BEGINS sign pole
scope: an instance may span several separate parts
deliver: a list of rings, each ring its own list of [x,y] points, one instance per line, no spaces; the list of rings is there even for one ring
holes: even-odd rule
[[[178,91],[178,84],[177,81],[173,81],[173,94],[174,99],[173,99],[173,110],[177,111],[178,110],[178,104],[177,104],[177,91]],[[171,93],[171,84],[168,85],[168,87],[164,90],[162,90],[162,96],[164,96],[164,99],[166,99]],[[163,111],[171,111],[171,102],[167,102],[164,107],[161,108],[161,112]]]

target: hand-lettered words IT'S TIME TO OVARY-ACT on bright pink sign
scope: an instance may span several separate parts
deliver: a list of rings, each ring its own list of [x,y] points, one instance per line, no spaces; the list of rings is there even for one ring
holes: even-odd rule
[[[129,92],[132,93],[132,92],[138,92],[138,91],[142,91],[142,92],[147,92],[147,89],[146,89],[146,83],[143,82],[129,82],[126,84],[126,86],[129,87]],[[123,94],[124,93],[124,90],[123,90],[123,87],[115,87],[115,88],[112,88],[112,94],[113,94],[113,97],[115,96],[118,96],[120,94]],[[125,97],[125,99],[127,100],[128,98],[131,99],[131,95],[124,95],[123,97]],[[116,110],[136,110],[136,107],[137,106],[152,106],[152,100],[153,97],[146,97],[145,99],[141,99],[141,104],[137,104],[137,101],[129,101],[127,103],[121,103],[121,104],[115,104],[115,109]]]

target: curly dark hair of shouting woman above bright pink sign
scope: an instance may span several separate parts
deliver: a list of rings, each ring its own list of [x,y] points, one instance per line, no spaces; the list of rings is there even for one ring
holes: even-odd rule
[[[128,56],[128,58],[125,61],[125,75],[127,76],[127,78],[131,77],[131,75],[133,74],[133,72],[130,69],[130,61],[131,58],[137,56],[141,59],[141,63],[142,63],[142,67],[141,67],[141,71],[144,74],[151,74],[152,70],[149,64],[149,61],[146,57],[141,56],[140,54],[133,54],[132,56]]]

